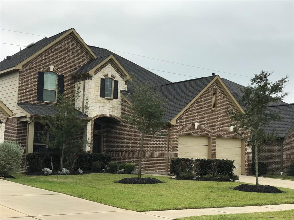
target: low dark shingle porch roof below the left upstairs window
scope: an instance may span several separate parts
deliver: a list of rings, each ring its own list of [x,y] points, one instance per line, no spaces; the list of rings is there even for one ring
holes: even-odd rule
[[[27,104],[27,103],[17,103],[17,105],[32,115],[44,116],[47,114],[49,116],[53,116],[57,113],[57,110],[55,110],[54,106],[52,105],[38,105],[38,104]],[[86,114],[83,115],[80,111],[78,111],[77,118],[86,119],[87,117],[88,115]]]

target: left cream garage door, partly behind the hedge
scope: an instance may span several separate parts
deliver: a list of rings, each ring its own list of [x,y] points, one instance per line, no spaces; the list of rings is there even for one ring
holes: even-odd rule
[[[207,158],[208,137],[179,135],[179,158]]]

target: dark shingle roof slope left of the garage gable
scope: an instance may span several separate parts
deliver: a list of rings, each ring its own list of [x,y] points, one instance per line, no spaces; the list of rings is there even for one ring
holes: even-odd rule
[[[153,87],[154,91],[159,92],[165,99],[164,107],[168,109],[168,112],[164,119],[167,121],[173,119],[214,77],[216,76],[190,79]]]

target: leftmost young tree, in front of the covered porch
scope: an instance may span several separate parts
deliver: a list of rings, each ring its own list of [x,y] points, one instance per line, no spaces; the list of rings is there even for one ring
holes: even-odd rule
[[[59,89],[56,89],[59,91]],[[45,130],[49,132],[50,137],[48,145],[52,148],[60,149],[60,170],[64,166],[64,154],[65,151],[70,151],[75,146],[73,140],[76,134],[82,132],[85,126],[85,114],[88,113],[88,97],[86,98],[83,115],[78,118],[78,111],[81,111],[81,107],[75,105],[76,101],[80,97],[80,85],[74,94],[70,97],[64,97],[61,94],[57,94],[58,104],[54,107],[57,113],[54,116],[45,115],[40,118],[40,122],[45,126]]]

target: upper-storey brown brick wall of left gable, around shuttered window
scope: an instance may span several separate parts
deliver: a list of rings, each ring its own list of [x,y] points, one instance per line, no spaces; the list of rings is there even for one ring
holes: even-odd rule
[[[33,60],[23,65],[19,71],[18,102],[33,104],[52,104],[37,101],[38,71],[49,71],[64,75],[64,95],[69,97],[75,89],[75,80],[71,75],[90,60],[73,34],[69,34],[45,50]]]

